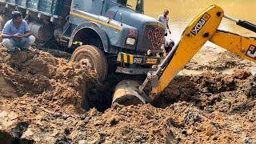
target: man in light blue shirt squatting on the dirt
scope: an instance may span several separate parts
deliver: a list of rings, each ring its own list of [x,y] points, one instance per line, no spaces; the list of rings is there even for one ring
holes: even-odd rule
[[[30,28],[25,20],[22,18],[22,13],[13,11],[12,19],[6,22],[2,29],[2,44],[9,52],[14,52],[16,47],[21,50],[28,50],[35,38],[31,35]]]

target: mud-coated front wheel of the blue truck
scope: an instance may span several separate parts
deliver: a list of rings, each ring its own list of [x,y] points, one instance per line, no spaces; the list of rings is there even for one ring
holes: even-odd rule
[[[70,62],[82,62],[90,70],[95,70],[99,82],[103,82],[107,76],[108,67],[106,57],[98,47],[90,45],[79,46],[74,50]]]

